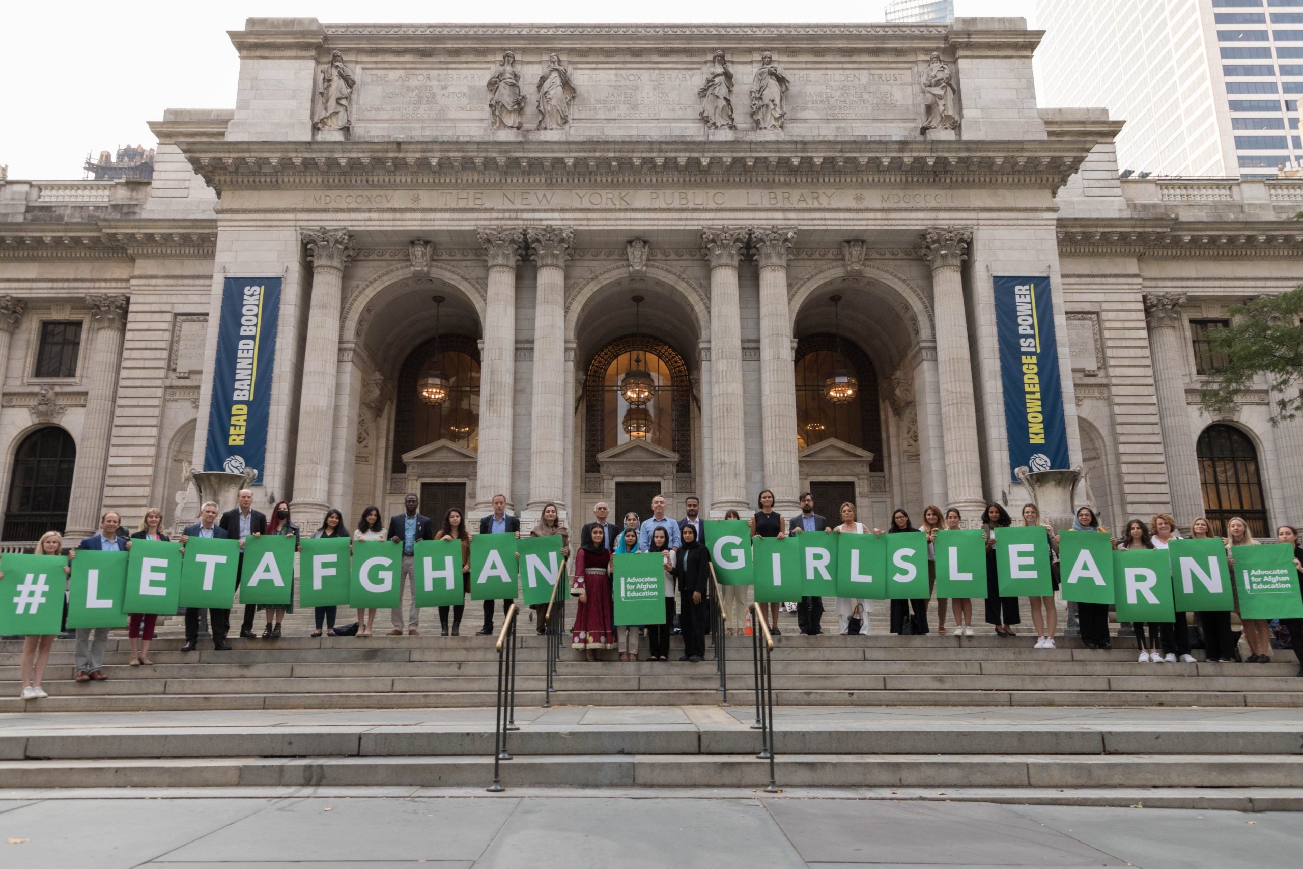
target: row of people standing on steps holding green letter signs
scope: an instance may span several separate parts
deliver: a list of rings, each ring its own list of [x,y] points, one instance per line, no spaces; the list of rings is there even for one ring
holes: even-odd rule
[[[240,541],[241,548],[249,537],[261,534],[283,534],[293,537],[296,545],[302,533],[298,525],[291,519],[291,506],[287,502],[278,503],[268,517],[266,513],[253,508],[254,495],[251,490],[241,490],[237,495],[237,504],[219,515],[220,507],[214,502],[205,503],[199,509],[199,521],[186,526],[179,542],[184,547],[192,537],[198,538],[235,538]],[[319,528],[310,537],[351,537],[353,541],[391,541],[400,543],[403,550],[403,567],[400,575],[399,606],[391,610],[391,629],[388,636],[418,636],[421,610],[417,607],[413,595],[413,554],[420,541],[460,541],[461,542],[461,571],[463,594],[470,591],[470,539],[469,522],[463,511],[448,509],[442,525],[422,516],[418,511],[420,499],[408,495],[404,499],[404,511],[391,516],[386,524],[380,517],[379,507],[367,507],[358,519],[357,528],[349,533],[344,515],[335,508],[326,512]],[[717,585],[711,580],[709,552],[705,547],[706,521],[701,516],[701,503],[697,498],[688,498],[684,502],[684,517],[675,520],[667,515],[667,502],[657,495],[652,500],[652,515],[641,519],[636,512],[625,513],[623,525],[616,526],[609,521],[610,508],[605,502],[599,502],[593,509],[593,521],[584,525],[579,535],[579,547],[571,552],[571,539],[568,529],[559,522],[559,513],[555,504],[547,504],[539,520],[534,524],[529,535],[541,537],[556,534],[562,538],[562,558],[566,560],[573,555],[573,569],[569,571],[569,593],[577,599],[575,620],[571,625],[571,646],[582,650],[588,661],[598,661],[607,650],[615,650],[620,661],[631,662],[640,659],[640,641],[645,636],[650,653],[648,661],[670,659],[670,638],[680,634],[683,638],[683,654],[679,661],[700,662],[705,657],[705,634],[709,632],[711,607],[722,607],[724,612],[724,633],[735,634],[743,632],[747,621],[749,606],[748,588],[745,585]],[[741,520],[736,509],[730,509],[723,520]],[[958,530],[964,528],[964,519],[960,512],[951,507],[942,508],[929,504],[923,511],[923,521],[916,526],[908,512],[896,509],[891,515],[891,521],[886,532],[866,528],[856,517],[855,506],[843,503],[838,509],[839,521],[830,524],[822,515],[814,512],[814,499],[810,492],[800,498],[800,512],[795,516],[784,517],[775,511],[774,492],[764,490],[760,492],[756,512],[747,519],[751,533],[754,537],[783,538],[790,534],[825,533],[825,534],[899,534],[919,533],[928,539],[928,575],[929,589],[936,585],[936,534],[939,530]],[[1041,521],[1041,516],[1035,504],[1025,504],[1020,511],[1024,526],[1045,528],[1049,550],[1052,554],[1052,580],[1053,589],[1059,588],[1058,572],[1058,546],[1062,539],[1058,530]],[[986,598],[984,601],[984,619],[992,625],[998,637],[1016,637],[1014,625],[1022,624],[1020,599],[1005,597],[999,593],[995,568],[995,532],[1001,528],[1014,525],[1009,511],[998,503],[986,506],[982,516],[981,529],[986,543]],[[163,512],[150,508],[141,520],[139,529],[128,533],[122,529],[121,516],[116,511],[108,511],[100,519],[100,530],[87,537],[76,547],[65,547],[59,532],[47,532],[36,542],[35,554],[65,555],[69,565],[64,568],[70,575],[72,560],[79,550],[96,551],[128,551],[133,539],[168,541],[163,532]],[[1072,521],[1074,532],[1109,533],[1100,525],[1098,516],[1091,507],[1078,509]],[[1250,534],[1247,522],[1240,517],[1230,519],[1226,522],[1226,537],[1222,538],[1227,562],[1234,567],[1230,558],[1231,547],[1253,545],[1257,541]],[[480,534],[515,534],[521,535],[520,519],[507,512],[507,499],[504,495],[493,498],[493,512],[481,517]],[[1212,525],[1207,517],[1195,517],[1191,522],[1191,537],[1213,538]],[[1111,537],[1113,547],[1117,550],[1164,550],[1173,539],[1179,539],[1177,520],[1169,513],[1158,513],[1149,521],[1140,519],[1130,520],[1123,530]],[[1294,547],[1295,568],[1303,573],[1303,542],[1299,539],[1298,529],[1291,525],[1277,528],[1276,539]],[[665,572],[665,606],[666,616],[662,624],[653,625],[615,625],[614,624],[614,594],[612,594],[612,565],[615,555],[629,552],[659,552],[662,554],[662,567]],[[4,573],[0,573],[3,580]],[[403,598],[410,602],[404,612]],[[932,595],[909,601],[890,601],[890,632],[895,634],[926,634],[930,632],[929,608]],[[1028,598],[1032,624],[1036,631],[1036,648],[1053,649],[1058,636],[1058,611],[1053,595]],[[481,636],[494,633],[494,616],[496,601],[483,601],[483,625],[477,631]],[[503,601],[503,614],[508,611],[512,601]],[[1109,605],[1105,603],[1078,603],[1078,619],[1083,644],[1089,649],[1111,649],[1113,638],[1109,628]],[[767,624],[774,634],[782,634],[780,614],[795,612],[797,631],[807,636],[820,636],[823,633],[823,599],[820,597],[803,597],[790,603],[765,605]],[[837,598],[837,632],[840,636],[864,636],[869,633],[869,614],[873,602],[868,599]],[[66,619],[68,605],[64,603],[64,616]],[[947,612],[949,610],[949,612]],[[276,640],[281,636],[284,616],[293,611],[292,605],[266,606],[246,605],[240,624],[240,636],[257,638],[254,623],[258,612],[263,612],[265,628],[262,638]],[[547,629],[547,605],[534,607],[536,629],[545,633]],[[972,637],[973,633],[973,601],[956,598],[936,598],[937,634],[946,636],[947,615],[952,619],[951,636]],[[442,636],[460,636],[461,620],[465,605],[438,607],[439,631]],[[1238,607],[1235,608],[1238,614]],[[373,636],[375,628],[377,610],[357,610],[357,624],[349,625],[349,633],[360,637]],[[1178,661],[1195,662],[1191,654],[1191,631],[1186,612],[1177,612],[1170,623],[1136,623],[1131,625],[1139,650],[1140,663],[1175,663]],[[1195,623],[1203,638],[1207,661],[1239,661],[1239,638],[1233,632],[1231,612],[1195,612]],[[227,641],[231,631],[231,610],[208,610],[208,624],[211,627],[214,649],[227,650],[231,644]],[[128,620],[128,638],[130,641],[130,666],[151,664],[149,658],[150,644],[154,640],[156,615],[132,614]],[[192,651],[199,640],[201,610],[185,610],[185,644],[182,651]],[[335,606],[315,607],[313,637],[336,636],[344,631],[337,624],[339,608]],[[1299,659],[1299,675],[1303,676],[1303,619],[1283,619],[1282,627],[1291,638],[1295,657]],[[1265,619],[1240,619],[1242,634],[1248,646],[1247,663],[1269,663],[1272,650],[1272,625]],[[104,649],[109,636],[109,628],[78,628],[76,629],[76,649],[73,679],[79,683],[102,681],[107,679],[103,667]],[[22,693],[25,700],[38,700],[46,697],[40,687],[50,651],[55,636],[29,636],[25,638],[22,649]]]

